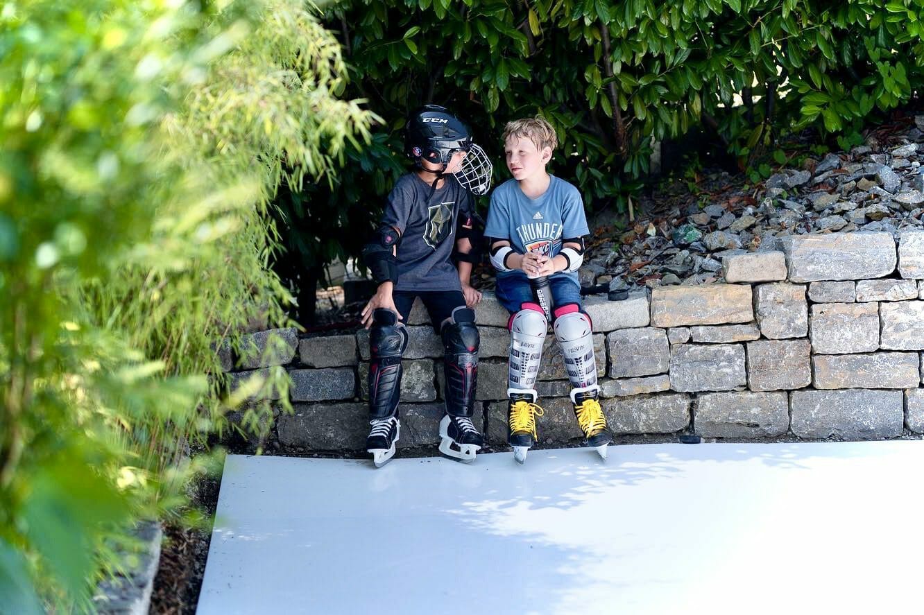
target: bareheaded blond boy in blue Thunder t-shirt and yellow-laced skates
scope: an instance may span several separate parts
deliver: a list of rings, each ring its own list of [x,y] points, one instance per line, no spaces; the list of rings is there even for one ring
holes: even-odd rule
[[[584,203],[577,187],[545,168],[557,144],[553,127],[540,116],[506,125],[505,157],[513,179],[492,193],[484,230],[491,238],[497,299],[511,314],[507,441],[521,464],[537,438],[536,416],[542,416],[535,384],[549,327],[547,312],[587,443],[605,459],[613,441],[599,402],[592,325],[581,307],[577,281],[584,235],[589,234]],[[536,298],[535,281],[543,278],[553,306],[541,305],[544,300]]]

